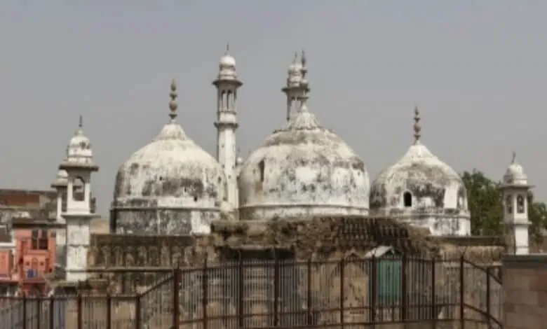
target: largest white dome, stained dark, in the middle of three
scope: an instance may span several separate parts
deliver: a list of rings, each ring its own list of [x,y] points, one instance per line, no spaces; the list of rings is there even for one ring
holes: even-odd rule
[[[302,109],[266,138],[238,179],[240,217],[367,214],[369,178],[363,160]]]

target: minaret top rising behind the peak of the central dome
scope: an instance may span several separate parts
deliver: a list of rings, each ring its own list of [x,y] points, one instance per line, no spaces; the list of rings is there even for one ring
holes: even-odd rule
[[[298,58],[298,53],[295,52],[295,58],[292,59],[292,64],[290,64],[287,71],[287,85],[281,88],[281,91],[287,96],[287,121],[290,120],[293,113],[300,109],[300,97],[309,92],[306,81],[307,71],[304,50],[302,50],[300,58]]]

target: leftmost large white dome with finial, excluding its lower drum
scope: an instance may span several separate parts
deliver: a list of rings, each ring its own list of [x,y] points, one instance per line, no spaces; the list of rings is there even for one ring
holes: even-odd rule
[[[215,204],[223,197],[224,171],[175,122],[174,82],[171,88],[170,123],[119,167],[113,208],[218,211]]]

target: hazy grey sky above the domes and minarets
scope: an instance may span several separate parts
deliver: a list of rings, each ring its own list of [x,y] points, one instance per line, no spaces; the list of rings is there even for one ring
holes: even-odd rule
[[[168,120],[172,78],[178,121],[214,155],[211,81],[229,42],[245,156],[283,125],[305,48],[310,110],[371,179],[412,143],[418,105],[441,160],[501,179],[516,150],[546,200],[545,13],[544,0],[2,1],[0,186],[48,188],[83,115],[107,214],[119,165]]]

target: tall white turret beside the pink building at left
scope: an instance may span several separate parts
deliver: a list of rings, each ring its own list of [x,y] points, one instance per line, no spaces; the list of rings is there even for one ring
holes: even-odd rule
[[[91,173],[99,167],[93,163],[90,140],[83,134],[82,118],[69,141],[67,158],[59,169],[67,171],[67,209],[62,217],[67,223],[67,281],[87,279],[87,260],[90,238]]]

